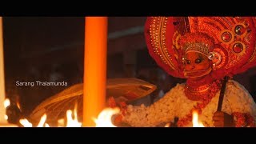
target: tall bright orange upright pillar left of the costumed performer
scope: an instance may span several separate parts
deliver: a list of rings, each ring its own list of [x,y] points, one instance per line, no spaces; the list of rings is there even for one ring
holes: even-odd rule
[[[106,102],[107,17],[86,17],[82,126],[95,126]]]

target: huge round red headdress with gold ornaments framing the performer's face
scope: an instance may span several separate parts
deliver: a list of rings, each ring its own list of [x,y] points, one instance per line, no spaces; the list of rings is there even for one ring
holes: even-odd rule
[[[195,50],[213,63],[211,75],[242,73],[256,65],[253,17],[150,17],[146,43],[150,55],[166,72],[184,78],[182,58]]]

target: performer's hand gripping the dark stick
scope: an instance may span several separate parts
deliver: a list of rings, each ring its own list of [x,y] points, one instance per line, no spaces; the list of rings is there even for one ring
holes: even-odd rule
[[[215,127],[232,127],[234,126],[233,116],[222,111],[216,111],[213,117]]]

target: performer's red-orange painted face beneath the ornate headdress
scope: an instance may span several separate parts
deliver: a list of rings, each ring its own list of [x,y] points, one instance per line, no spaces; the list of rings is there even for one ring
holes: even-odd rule
[[[205,54],[195,51],[186,53],[184,75],[187,78],[202,77],[211,71],[210,60]]]

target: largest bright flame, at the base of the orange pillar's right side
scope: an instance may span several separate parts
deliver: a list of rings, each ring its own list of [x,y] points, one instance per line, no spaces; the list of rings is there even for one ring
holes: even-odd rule
[[[120,109],[118,107],[110,108],[102,110],[100,114],[98,114],[98,118],[94,118],[94,122],[96,123],[96,127],[116,127],[112,124],[112,115],[118,114]]]

